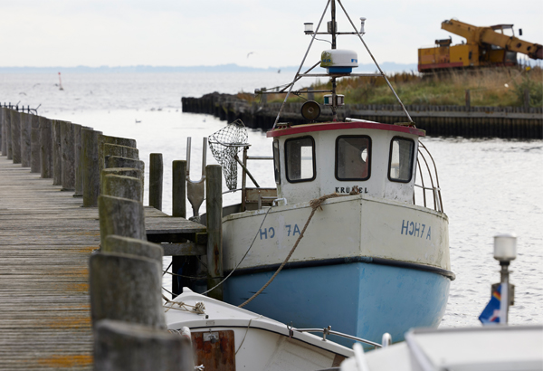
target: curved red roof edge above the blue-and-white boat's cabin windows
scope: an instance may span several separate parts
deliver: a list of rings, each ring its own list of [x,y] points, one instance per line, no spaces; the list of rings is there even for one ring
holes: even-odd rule
[[[349,128],[372,128],[376,130],[395,131],[398,133],[413,134],[419,137],[426,135],[424,130],[403,125],[380,124],[376,122],[322,122],[316,124],[296,125],[288,128],[275,128],[266,133],[266,137],[282,137],[293,134],[310,133],[314,131],[345,130]]]

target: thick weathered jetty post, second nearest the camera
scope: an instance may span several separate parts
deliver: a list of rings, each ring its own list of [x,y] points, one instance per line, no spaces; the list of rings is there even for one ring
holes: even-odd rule
[[[90,317],[166,328],[162,264],[124,253],[90,255]]]

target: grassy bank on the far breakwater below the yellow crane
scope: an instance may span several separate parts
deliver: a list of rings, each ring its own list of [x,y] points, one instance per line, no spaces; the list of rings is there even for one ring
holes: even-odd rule
[[[451,71],[424,76],[418,73],[387,75],[404,104],[465,105],[465,91],[471,92],[472,106],[523,107],[524,91],[529,90],[530,107],[543,106],[543,70],[535,67],[487,68],[472,71]],[[331,89],[331,82],[312,84],[314,90]],[[346,104],[396,104],[394,95],[380,77],[355,77],[338,80],[338,93],[345,95]],[[315,94],[322,102],[324,94]],[[240,98],[254,100],[249,94]],[[305,94],[304,94],[305,96]],[[269,102],[282,101],[284,94],[271,94]],[[256,100],[259,100],[257,97]],[[305,101],[292,97],[289,101]]]

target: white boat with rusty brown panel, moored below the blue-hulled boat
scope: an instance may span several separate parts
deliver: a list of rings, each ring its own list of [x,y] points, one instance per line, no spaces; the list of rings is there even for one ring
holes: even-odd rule
[[[353,351],[273,319],[184,288],[166,304],[167,328],[190,328],[195,365],[204,370],[320,370]]]

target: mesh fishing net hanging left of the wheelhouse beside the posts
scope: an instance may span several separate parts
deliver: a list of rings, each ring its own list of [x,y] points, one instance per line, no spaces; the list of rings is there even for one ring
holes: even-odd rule
[[[224,179],[228,189],[237,187],[237,161],[235,155],[247,144],[247,128],[241,119],[221,128],[209,136],[209,147],[213,157],[223,166]]]

